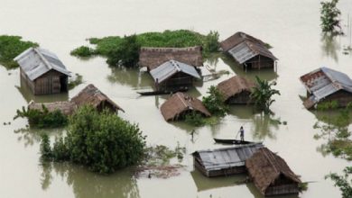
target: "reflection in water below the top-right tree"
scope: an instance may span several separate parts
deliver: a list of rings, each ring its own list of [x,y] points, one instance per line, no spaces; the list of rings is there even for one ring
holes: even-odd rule
[[[338,50],[340,49],[338,36],[330,33],[323,33],[320,41],[323,56],[333,58],[338,62]]]

